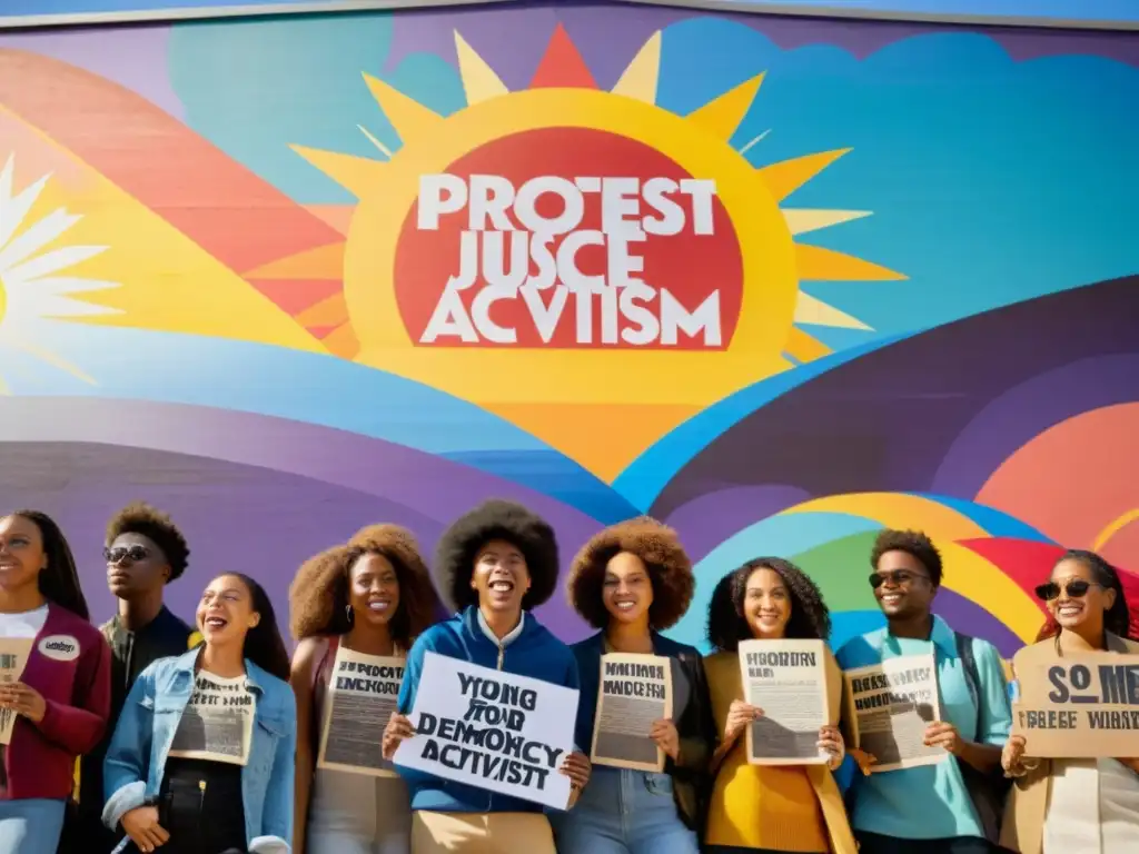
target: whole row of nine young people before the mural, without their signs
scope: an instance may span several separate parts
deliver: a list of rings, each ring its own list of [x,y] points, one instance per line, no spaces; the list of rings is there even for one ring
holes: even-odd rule
[[[0,723],[15,715],[0,746],[6,854],[1139,851],[1139,758],[1024,755],[1024,740],[1010,737],[1001,656],[932,613],[942,561],[920,533],[880,534],[869,583],[886,625],[836,654],[844,670],[934,658],[941,720],[925,742],[945,761],[880,773],[829,725],[818,733],[825,764],[748,762],[744,733],[763,711],[745,699],[739,644],[826,641],[826,603],[794,564],[751,560],[716,584],[713,652],[702,656],[661,633],[686,614],[696,582],[675,533],[653,519],[608,527],[577,552],[566,591],[597,631],[572,647],[533,614],[558,588],[554,529],[511,502],[487,501],[456,520],[434,577],[415,537],[394,525],[308,560],[289,591],[292,658],[268,596],[247,575],[213,578],[194,626],[165,608],[163,589],[186,570],[189,549],[153,508],[115,516],[105,557],[120,608],[96,629],[58,526],[34,511],[0,517],[0,642],[32,642],[18,678],[0,683]],[[1033,658],[1139,654],[1105,560],[1068,552],[1041,582],[1050,618]],[[375,723],[387,758],[415,737],[427,652],[576,690],[576,747],[557,769],[568,778],[567,808],[402,765],[395,778],[318,767],[339,649],[404,659],[399,711]],[[661,772],[587,756],[611,652],[670,659],[671,714],[648,733],[665,756]],[[252,709],[233,761],[188,749],[202,720],[195,706],[218,692]]]

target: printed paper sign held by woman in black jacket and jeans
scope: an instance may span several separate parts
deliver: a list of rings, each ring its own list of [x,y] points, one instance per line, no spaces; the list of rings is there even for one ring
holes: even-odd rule
[[[601,681],[590,761],[634,771],[663,771],[664,750],[648,737],[655,721],[672,717],[669,658],[609,652]]]

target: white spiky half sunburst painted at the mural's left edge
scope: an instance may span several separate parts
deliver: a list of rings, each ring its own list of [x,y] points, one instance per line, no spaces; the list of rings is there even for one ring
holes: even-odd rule
[[[82,217],[64,207],[38,215],[35,203],[51,175],[16,191],[15,170],[16,158],[10,155],[0,171],[0,394],[10,394],[7,377],[17,373],[19,360],[28,356],[95,383],[48,342],[57,320],[116,313],[72,298],[116,287],[68,273],[107,247],[67,245],[66,232]]]

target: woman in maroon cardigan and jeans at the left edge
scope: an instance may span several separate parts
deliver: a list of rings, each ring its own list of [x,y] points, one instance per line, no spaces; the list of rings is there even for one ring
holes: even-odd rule
[[[55,854],[75,761],[110,707],[110,650],[75,559],[35,510],[0,517],[0,852]]]

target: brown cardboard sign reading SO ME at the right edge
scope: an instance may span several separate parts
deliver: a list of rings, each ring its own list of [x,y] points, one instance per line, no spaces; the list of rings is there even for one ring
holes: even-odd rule
[[[1139,655],[1084,652],[1013,659],[1013,732],[1025,756],[1116,758],[1139,754]]]

